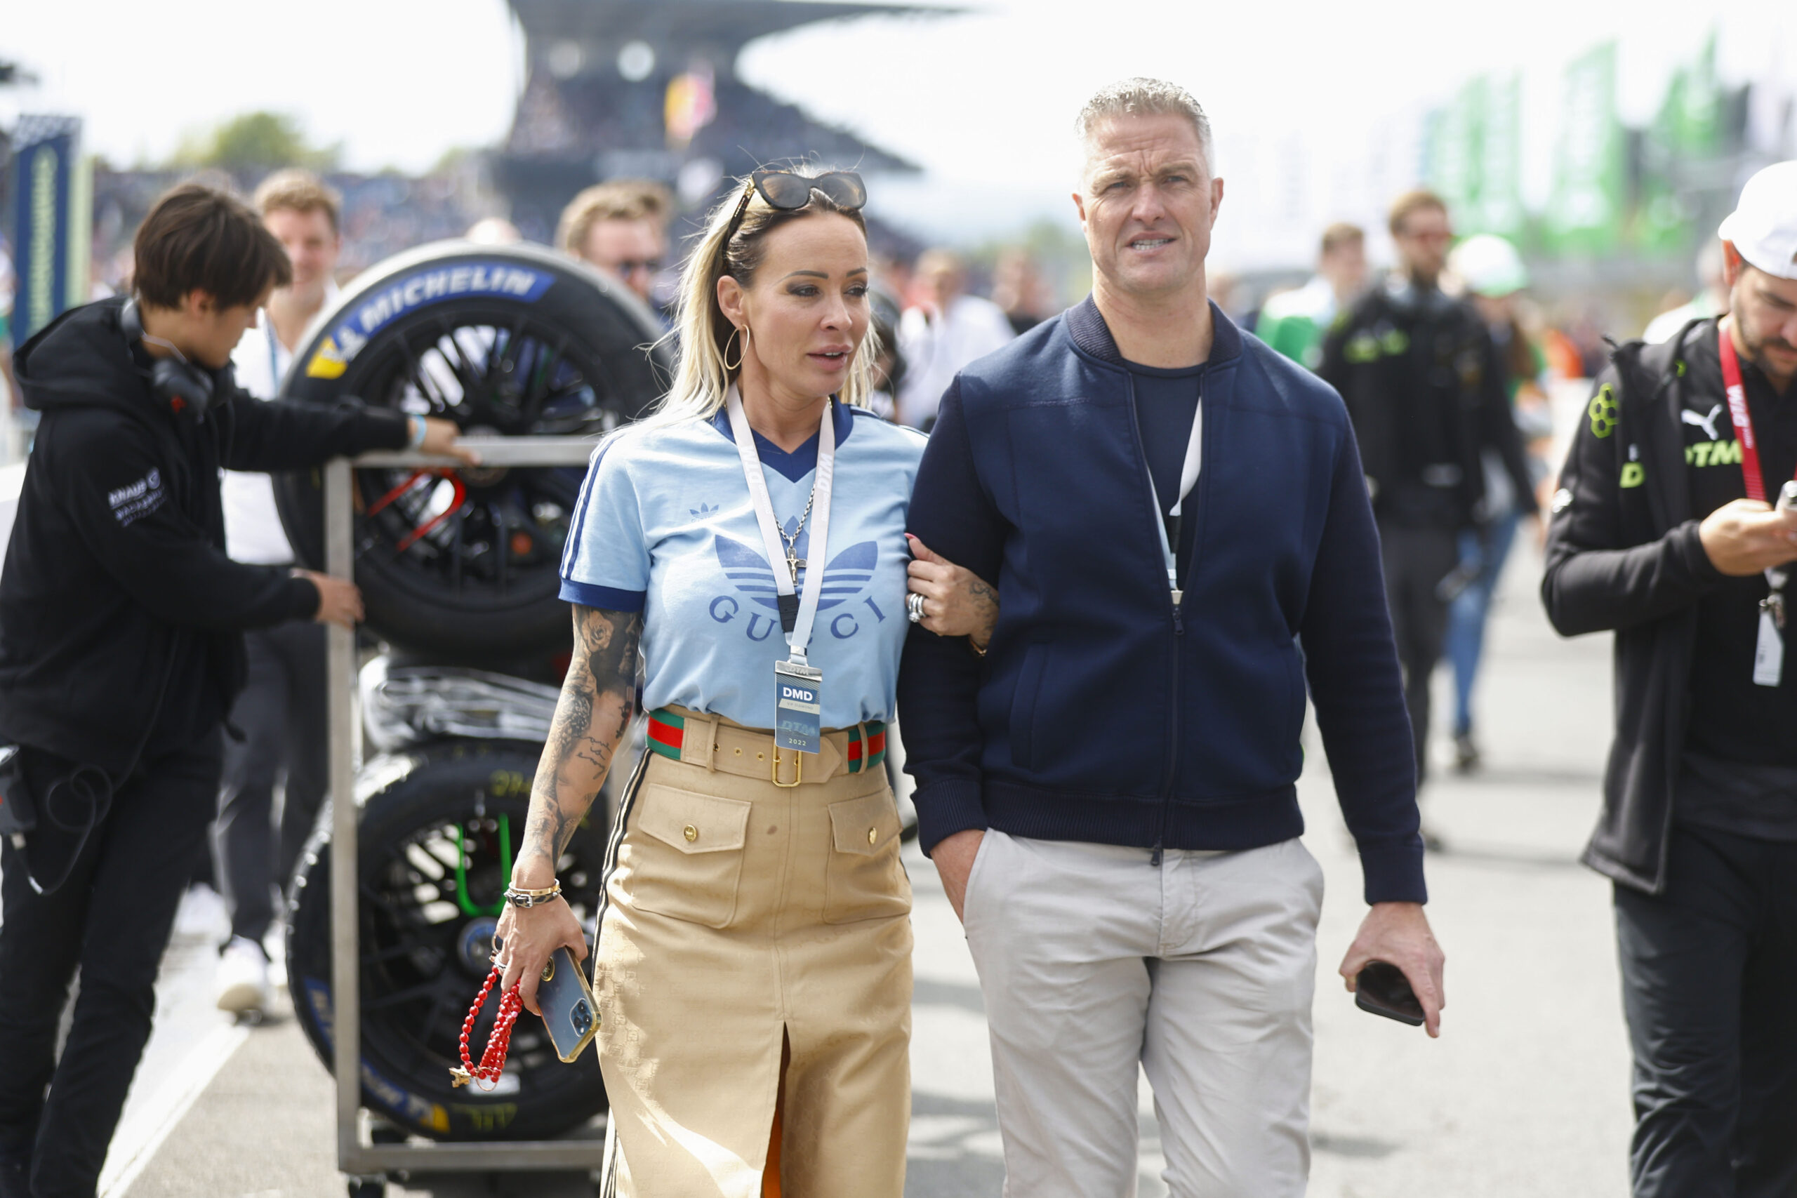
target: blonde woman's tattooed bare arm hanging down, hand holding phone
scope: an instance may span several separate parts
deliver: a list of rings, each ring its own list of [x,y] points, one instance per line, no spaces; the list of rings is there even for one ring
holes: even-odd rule
[[[555,862],[598,797],[636,715],[636,647],[642,636],[640,612],[573,609],[573,659],[530,788],[530,817],[512,866],[512,885],[539,891],[555,882]],[[519,993],[532,1011],[537,1011],[537,979],[550,954],[566,945],[577,959],[586,957],[580,921],[561,898],[528,909],[507,903],[500,914],[500,938],[507,963],[500,988],[521,982]]]

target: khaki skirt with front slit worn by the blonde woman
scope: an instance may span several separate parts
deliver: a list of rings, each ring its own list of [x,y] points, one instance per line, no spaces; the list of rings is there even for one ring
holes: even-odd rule
[[[776,785],[771,735],[674,713],[677,760],[645,753],[625,790],[593,954],[604,1193],[758,1198],[785,1042],[782,1193],[900,1198],[911,884],[886,772],[848,772],[834,731]]]

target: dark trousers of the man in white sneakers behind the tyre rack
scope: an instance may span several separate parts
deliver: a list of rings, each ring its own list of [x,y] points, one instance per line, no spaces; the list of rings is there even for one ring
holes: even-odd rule
[[[230,713],[244,738],[225,745],[212,862],[232,936],[261,943],[275,920],[273,893],[286,889],[329,787],[325,627],[259,629],[244,636],[244,648],[250,677]],[[282,771],[277,839],[271,824]]]

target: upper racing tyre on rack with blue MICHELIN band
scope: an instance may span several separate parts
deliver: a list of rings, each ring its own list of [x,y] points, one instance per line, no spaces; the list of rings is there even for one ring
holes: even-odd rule
[[[282,397],[455,420],[469,435],[584,436],[661,393],[656,316],[536,246],[438,242],[365,271],[314,322]],[[580,469],[358,471],[356,582],[395,645],[496,661],[568,645],[557,598]],[[323,568],[322,471],[275,480],[300,559]]]

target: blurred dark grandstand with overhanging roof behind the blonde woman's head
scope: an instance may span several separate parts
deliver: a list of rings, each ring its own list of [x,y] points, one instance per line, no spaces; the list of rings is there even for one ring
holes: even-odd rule
[[[819,124],[737,77],[749,41],[816,22],[954,9],[814,0],[510,0],[527,83],[494,154],[512,221],[548,241],[577,190],[607,178],[668,183],[692,207],[724,176],[812,158],[861,171],[915,163]],[[686,111],[683,111],[683,108]],[[695,126],[695,128],[683,128]]]

